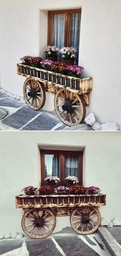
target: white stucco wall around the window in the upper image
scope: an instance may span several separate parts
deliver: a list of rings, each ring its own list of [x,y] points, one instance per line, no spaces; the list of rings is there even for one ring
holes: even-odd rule
[[[47,44],[46,11],[79,7],[79,64],[85,67],[86,76],[93,77],[87,113],[94,112],[101,123],[116,121],[121,125],[120,0],[0,0],[1,86],[23,95],[25,78],[16,75],[16,63],[26,54],[42,53]],[[54,109],[53,95],[47,95],[43,109]]]

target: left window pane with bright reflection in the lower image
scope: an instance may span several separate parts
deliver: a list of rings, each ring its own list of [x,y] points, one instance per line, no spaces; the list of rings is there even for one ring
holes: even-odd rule
[[[59,157],[56,154],[45,154],[45,176],[59,177]]]

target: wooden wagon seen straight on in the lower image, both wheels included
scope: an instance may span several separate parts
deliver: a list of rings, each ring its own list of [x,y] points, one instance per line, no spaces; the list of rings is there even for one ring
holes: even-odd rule
[[[16,208],[23,208],[23,231],[33,239],[42,239],[53,232],[55,215],[70,215],[75,232],[91,234],[99,227],[98,208],[103,205],[106,205],[105,194],[16,196]]]

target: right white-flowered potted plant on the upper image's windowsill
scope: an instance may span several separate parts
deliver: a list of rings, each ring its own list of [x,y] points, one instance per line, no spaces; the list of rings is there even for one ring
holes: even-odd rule
[[[75,47],[63,47],[60,49],[59,52],[62,53],[62,61],[67,65],[74,65],[76,51]]]

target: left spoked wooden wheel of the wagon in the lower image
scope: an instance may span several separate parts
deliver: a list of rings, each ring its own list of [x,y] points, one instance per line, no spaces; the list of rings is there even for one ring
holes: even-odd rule
[[[52,233],[56,218],[52,211],[44,209],[29,209],[22,217],[22,229],[34,239],[42,239]]]

